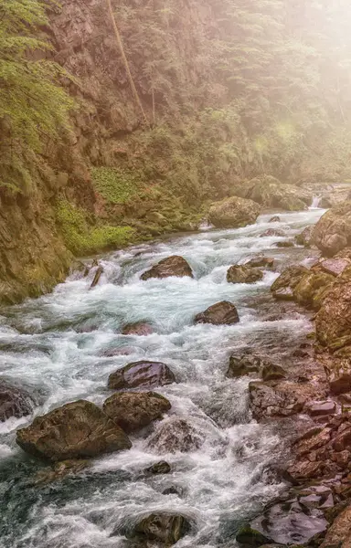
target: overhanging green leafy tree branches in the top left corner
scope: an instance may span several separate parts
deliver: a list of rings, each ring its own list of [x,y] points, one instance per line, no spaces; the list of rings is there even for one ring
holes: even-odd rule
[[[0,186],[26,191],[27,163],[69,131],[74,107],[58,84],[66,72],[46,58],[51,48],[44,0],[0,0]]]

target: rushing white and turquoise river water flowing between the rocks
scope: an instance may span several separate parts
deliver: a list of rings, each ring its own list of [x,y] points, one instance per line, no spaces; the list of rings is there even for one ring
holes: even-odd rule
[[[32,419],[0,424],[0,544],[4,548],[117,548],[111,533],[147,511],[181,511],[197,530],[177,546],[234,546],[238,524],[279,490],[269,472],[282,458],[278,428],[258,425],[248,409],[248,378],[227,379],[229,353],[252,348],[287,365],[291,351],[311,329],[289,307],[274,320],[277,306],[269,287],[277,273],[248,284],[229,284],[231,264],[258,252],[275,257],[278,269],[308,261],[302,248],[276,248],[321,216],[321,209],[269,215],[238,230],[210,230],[129,248],[101,258],[104,274],[89,290],[72,276],[37,300],[3,311],[0,319],[0,374],[36,396],[35,415],[79,398],[100,405],[108,396],[108,375],[139,359],[168,364],[178,383],[158,389],[172,403],[165,421],[180,416],[203,437],[190,453],[162,454],[134,436],[133,448],[96,459],[78,476],[34,485],[43,464],[16,447],[16,428]],[[287,237],[260,237],[278,227]],[[144,269],[169,255],[182,255],[195,279],[139,279]],[[311,256],[311,252],[309,252]],[[240,322],[233,326],[193,325],[194,315],[218,300],[231,300]],[[289,311],[290,310],[290,311]],[[151,321],[154,334],[123,336],[122,325]],[[106,357],[108,349],[128,355]],[[150,436],[150,432],[146,434]],[[167,475],[145,478],[141,471],[166,459]],[[162,494],[170,486],[183,492]]]

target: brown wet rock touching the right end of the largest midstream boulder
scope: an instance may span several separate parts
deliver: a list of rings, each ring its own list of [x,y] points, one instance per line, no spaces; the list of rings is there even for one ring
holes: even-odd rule
[[[170,408],[170,402],[155,392],[120,392],[102,406],[103,412],[128,434],[162,418]]]

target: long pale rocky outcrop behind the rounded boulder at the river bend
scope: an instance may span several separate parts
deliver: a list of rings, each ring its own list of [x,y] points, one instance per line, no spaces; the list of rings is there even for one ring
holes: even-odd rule
[[[271,175],[261,175],[250,181],[239,182],[230,188],[233,195],[250,198],[265,207],[280,207],[288,211],[300,211],[312,203],[313,195],[309,191],[282,184]]]

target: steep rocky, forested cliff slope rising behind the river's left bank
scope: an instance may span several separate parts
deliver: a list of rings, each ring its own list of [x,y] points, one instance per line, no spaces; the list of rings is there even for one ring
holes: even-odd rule
[[[61,144],[28,154],[32,184],[0,187],[0,301],[49,290],[73,255],[194,226],[202,204],[243,179],[346,174],[340,105],[320,106],[318,67],[284,6],[112,0],[146,121],[107,1],[52,8],[47,55],[73,77],[60,85],[77,109]]]

